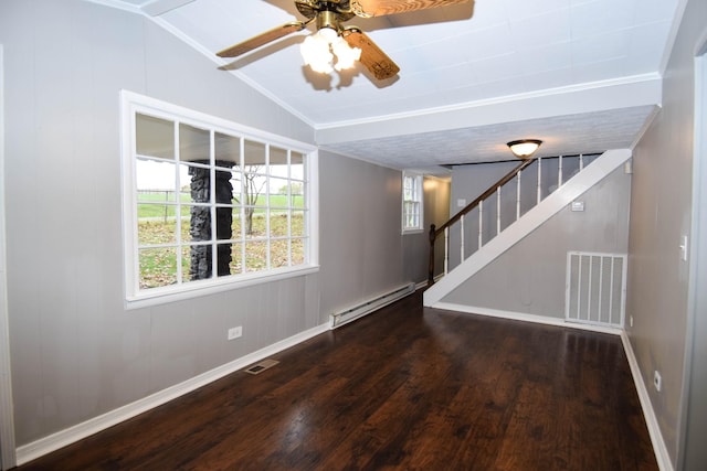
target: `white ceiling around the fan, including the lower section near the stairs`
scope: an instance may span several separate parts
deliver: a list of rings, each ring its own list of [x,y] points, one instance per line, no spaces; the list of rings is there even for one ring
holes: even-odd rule
[[[94,0],[154,19],[316,129],[325,149],[397,169],[630,147],[661,99],[682,0],[475,0],[355,18],[401,68],[382,83],[360,66],[303,66],[312,26],[234,62],[215,52],[303,20],[292,0]]]

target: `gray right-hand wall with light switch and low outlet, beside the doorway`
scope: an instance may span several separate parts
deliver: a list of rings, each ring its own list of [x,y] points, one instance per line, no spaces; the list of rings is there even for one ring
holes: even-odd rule
[[[635,148],[631,196],[629,335],[674,463],[682,441],[688,292],[688,264],[678,246],[690,234],[694,61],[706,34],[707,2],[689,0],[664,74],[663,109]],[[663,376],[661,393],[652,386],[654,371]]]

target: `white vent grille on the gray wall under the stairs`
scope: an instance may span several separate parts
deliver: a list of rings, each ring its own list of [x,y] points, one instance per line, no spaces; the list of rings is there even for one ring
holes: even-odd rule
[[[623,328],[626,265],[625,254],[569,251],[564,319]]]

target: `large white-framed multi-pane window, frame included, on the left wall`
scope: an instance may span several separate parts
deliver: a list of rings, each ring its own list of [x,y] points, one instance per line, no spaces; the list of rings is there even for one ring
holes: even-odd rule
[[[316,150],[124,92],[126,299],[316,269]]]

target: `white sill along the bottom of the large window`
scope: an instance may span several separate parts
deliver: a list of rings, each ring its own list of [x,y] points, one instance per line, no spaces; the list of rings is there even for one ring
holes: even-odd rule
[[[267,275],[254,274],[251,277],[243,276],[236,279],[222,278],[215,280],[194,281],[181,285],[179,288],[155,288],[150,291],[141,292],[137,296],[126,297],[125,309],[134,310],[140,308],[149,308],[151,306],[165,304],[168,302],[183,301],[201,296],[214,295],[223,291],[232,291],[250,286],[284,280],[287,278],[302,277],[305,275],[316,274],[318,271],[319,266],[312,265],[305,268],[286,269],[278,272],[271,271]]]

